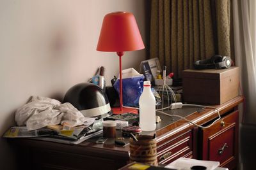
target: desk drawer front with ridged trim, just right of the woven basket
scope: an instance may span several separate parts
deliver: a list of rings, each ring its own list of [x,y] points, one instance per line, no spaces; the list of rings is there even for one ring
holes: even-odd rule
[[[159,164],[168,164],[179,157],[192,156],[192,132],[189,131],[157,148],[157,161]]]

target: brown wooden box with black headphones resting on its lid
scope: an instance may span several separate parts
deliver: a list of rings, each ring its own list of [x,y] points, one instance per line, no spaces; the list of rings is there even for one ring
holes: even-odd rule
[[[186,103],[225,103],[238,96],[239,67],[186,69],[182,72],[182,87]]]

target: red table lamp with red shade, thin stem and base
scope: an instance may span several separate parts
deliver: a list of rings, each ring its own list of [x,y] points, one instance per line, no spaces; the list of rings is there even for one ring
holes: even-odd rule
[[[123,107],[122,99],[122,56],[124,52],[145,48],[138,25],[132,13],[118,11],[108,13],[103,20],[97,51],[116,52],[119,56],[120,108],[112,108],[113,113],[134,113]]]

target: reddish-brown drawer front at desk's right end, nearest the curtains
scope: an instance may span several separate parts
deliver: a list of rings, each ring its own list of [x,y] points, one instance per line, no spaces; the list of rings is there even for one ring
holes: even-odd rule
[[[212,127],[202,129],[202,159],[220,161],[220,166],[232,169],[237,160],[237,134],[238,111],[221,118]]]

